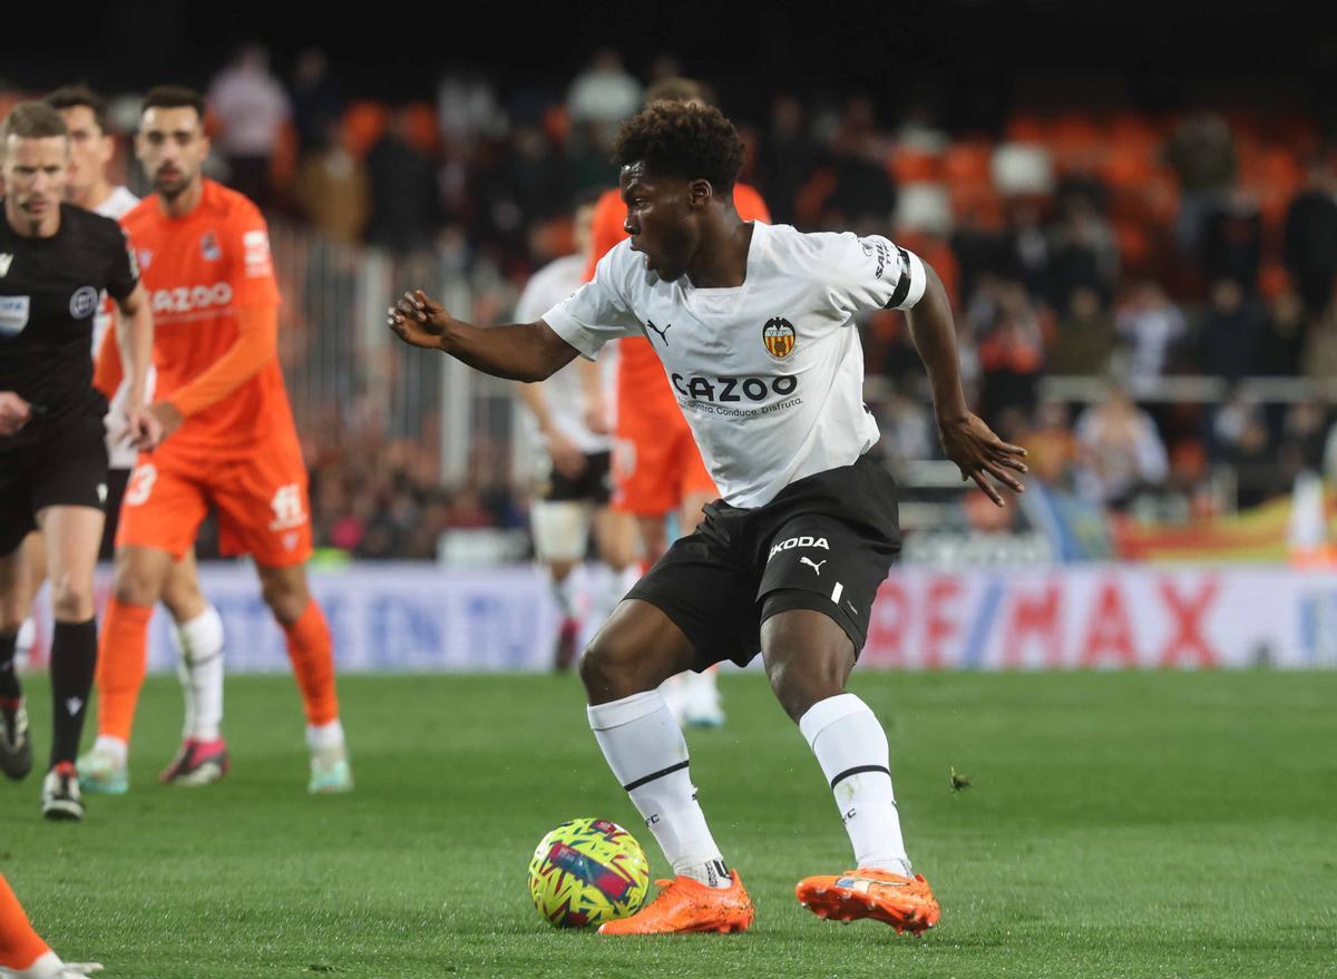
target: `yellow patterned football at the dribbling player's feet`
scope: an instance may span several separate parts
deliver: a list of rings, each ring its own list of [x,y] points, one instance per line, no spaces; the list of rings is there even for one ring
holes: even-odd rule
[[[559,928],[598,927],[636,913],[650,887],[650,863],[636,837],[608,820],[571,820],[539,841],[529,861],[529,896]]]

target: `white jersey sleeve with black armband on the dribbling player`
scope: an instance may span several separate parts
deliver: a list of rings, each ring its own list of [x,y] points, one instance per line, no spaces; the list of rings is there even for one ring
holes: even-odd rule
[[[814,265],[832,298],[850,313],[913,309],[928,285],[924,262],[880,234],[813,234]]]

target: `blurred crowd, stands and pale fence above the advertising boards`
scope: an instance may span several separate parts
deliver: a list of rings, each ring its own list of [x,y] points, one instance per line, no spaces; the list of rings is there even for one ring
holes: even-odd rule
[[[743,98],[694,67],[606,48],[543,83],[447,71],[393,99],[320,48],[275,62],[243,44],[213,74],[210,170],[274,229],[325,547],[432,558],[448,531],[524,527],[513,392],[405,357],[381,313],[424,285],[507,321],[528,276],[574,247],[572,202],[616,185],[618,124],[674,75],[715,86],[777,222],[889,235],[947,284],[975,407],[1029,448],[1044,492],[987,514],[923,464],[939,456],[923,369],[901,314],[878,313],[861,324],[868,400],[912,528],[916,512],[992,534],[1059,519],[1068,556],[1107,556],[1147,527],[1230,526],[1301,473],[1337,475],[1332,116],[1229,90],[963,110],[949,84],[913,78],[894,92],[771,79]],[[29,92],[9,86],[0,112]],[[136,96],[107,94],[128,136]],[[144,193],[130,154],[119,163]]]

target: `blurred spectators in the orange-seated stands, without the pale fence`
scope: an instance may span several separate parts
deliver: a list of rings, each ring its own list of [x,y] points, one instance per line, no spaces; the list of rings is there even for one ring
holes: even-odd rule
[[[320,51],[282,78],[246,47],[209,87],[217,174],[308,238],[431,253],[483,284],[475,313],[504,320],[528,274],[570,250],[571,202],[616,183],[611,139],[644,84],[678,71],[662,58],[639,78],[606,51],[564,92],[448,76],[435,99],[389,106],[346,91]],[[1032,447],[1047,483],[1107,510],[1154,499],[1203,516],[1222,508],[1221,465],[1226,508],[1246,508],[1337,456],[1322,387],[1337,376],[1337,134],[1316,120],[1087,108],[980,132],[940,122],[931,91],[896,118],[866,95],[781,94],[753,115],[718,98],[778,222],[888,234],[933,263],[977,408]],[[864,330],[889,453],[932,457],[901,316]],[[1181,396],[1186,377],[1217,393]],[[1257,377],[1300,384],[1259,396],[1241,384]],[[523,526],[528,473],[487,437],[471,480],[447,487],[436,445],[380,432],[303,425],[322,544],[420,558],[437,531]]]

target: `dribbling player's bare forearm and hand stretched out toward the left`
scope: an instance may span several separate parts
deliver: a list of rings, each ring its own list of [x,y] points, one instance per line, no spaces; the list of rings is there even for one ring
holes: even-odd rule
[[[405,344],[448,353],[475,370],[512,381],[547,380],[576,356],[543,320],[480,329],[452,317],[421,289],[404,293],[386,322]]]

